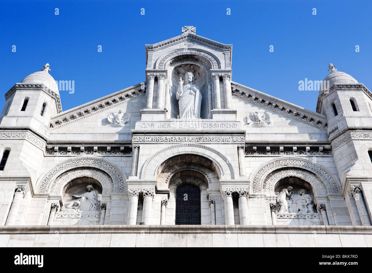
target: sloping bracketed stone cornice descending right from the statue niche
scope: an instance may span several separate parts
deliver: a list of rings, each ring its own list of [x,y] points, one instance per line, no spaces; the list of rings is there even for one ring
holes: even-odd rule
[[[235,84],[234,84],[235,85]],[[301,121],[308,125],[314,126],[323,131],[327,131],[325,126],[327,125],[326,117],[320,117],[318,113],[310,113],[310,111],[305,111],[304,109],[298,110],[296,105],[289,105],[284,103],[276,103],[275,98],[270,101],[270,98],[264,98],[257,94],[257,91],[252,90],[252,94],[249,90],[243,90],[244,87],[240,87],[236,84],[236,87],[232,87],[232,95],[241,98],[250,103],[259,105],[260,107],[266,108],[270,111],[280,113],[284,116],[291,117],[295,120]],[[293,107],[291,109],[291,107]]]

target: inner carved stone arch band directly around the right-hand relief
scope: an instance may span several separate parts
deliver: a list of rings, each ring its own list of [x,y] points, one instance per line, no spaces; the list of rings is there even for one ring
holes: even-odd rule
[[[296,168],[279,169],[270,173],[263,182],[263,192],[273,194],[276,183],[278,183],[282,178],[291,176],[295,176],[304,179],[306,182],[309,182],[315,190],[317,196],[327,196],[327,188],[317,176],[307,170]]]

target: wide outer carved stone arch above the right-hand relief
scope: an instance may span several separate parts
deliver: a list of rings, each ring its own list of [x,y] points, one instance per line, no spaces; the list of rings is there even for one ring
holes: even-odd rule
[[[326,191],[322,195],[341,194],[341,183],[337,180],[333,173],[331,173],[329,170],[327,170],[323,166],[320,166],[317,163],[313,163],[310,160],[302,159],[299,157],[281,157],[270,160],[269,162],[266,162],[263,165],[261,165],[251,174],[250,192],[251,193],[263,193],[270,191],[273,192],[274,191],[273,188],[270,188],[269,186],[269,184],[271,183],[270,179],[276,179],[275,175],[276,177],[278,177],[278,179],[280,179],[279,176],[285,174],[285,172],[276,173],[275,170],[288,167],[308,170],[308,172],[296,172],[296,174],[301,175],[298,176],[300,178],[305,177],[306,178],[305,180],[307,180],[310,183],[312,181],[312,183],[314,183],[313,186],[315,187],[315,189],[317,189],[316,190],[317,194],[318,191],[319,193],[324,192],[324,189],[322,190],[321,185],[315,178],[318,178],[319,181],[325,185]],[[318,185],[318,188],[315,185]]]

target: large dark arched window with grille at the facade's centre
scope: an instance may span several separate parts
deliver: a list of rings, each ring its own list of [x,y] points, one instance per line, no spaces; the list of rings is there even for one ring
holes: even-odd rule
[[[200,225],[200,189],[192,184],[183,184],[176,190],[176,225]]]

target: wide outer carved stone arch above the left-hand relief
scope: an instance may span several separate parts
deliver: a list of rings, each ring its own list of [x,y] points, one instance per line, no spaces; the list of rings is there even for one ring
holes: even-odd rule
[[[52,188],[52,186],[57,183],[56,180],[59,181],[58,179],[61,179],[62,181],[65,179],[65,177],[71,178],[73,174],[80,175],[80,173],[82,172],[82,168],[84,168],[85,172],[88,172],[88,169],[98,169],[102,173],[105,173],[107,176],[109,176],[113,185],[112,190],[111,186],[107,187],[108,193],[123,193],[126,191],[126,176],[114,163],[99,157],[75,157],[73,159],[62,162],[61,164],[55,166],[53,169],[49,170],[36,184],[36,193],[52,194],[51,191],[53,189],[53,194],[55,194],[58,187],[54,186]],[[68,172],[69,170],[74,170],[74,172],[70,173]],[[100,173],[100,178],[105,181],[105,185],[109,185],[110,182],[108,182],[107,177],[103,176],[102,173]],[[96,174],[98,175],[99,173],[96,172]],[[103,186],[105,187],[105,185]],[[60,194],[60,192],[56,194]]]

